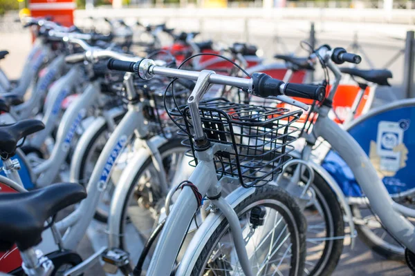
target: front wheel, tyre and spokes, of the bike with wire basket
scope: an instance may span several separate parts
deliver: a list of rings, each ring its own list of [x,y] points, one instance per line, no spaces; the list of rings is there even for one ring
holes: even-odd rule
[[[258,207],[264,208],[266,215],[264,225],[254,230],[250,211]],[[268,184],[256,188],[234,210],[239,216],[254,275],[301,275],[306,257],[306,220],[293,197]],[[244,275],[226,219],[199,246],[203,249],[192,275]]]

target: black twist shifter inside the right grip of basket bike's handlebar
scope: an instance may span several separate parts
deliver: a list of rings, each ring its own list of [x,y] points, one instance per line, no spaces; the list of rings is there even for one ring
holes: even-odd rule
[[[282,92],[279,90],[282,84],[284,84],[283,81],[273,79],[264,73],[253,73],[252,95],[262,98],[282,95]]]

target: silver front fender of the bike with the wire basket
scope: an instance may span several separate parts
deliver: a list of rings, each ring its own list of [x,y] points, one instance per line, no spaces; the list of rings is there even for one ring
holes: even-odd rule
[[[232,208],[235,208],[241,201],[255,193],[255,188],[243,188],[239,187],[230,193],[225,200],[228,201]],[[201,251],[203,250],[205,244],[208,242],[210,236],[218,228],[219,224],[225,219],[225,216],[221,213],[210,213],[208,217],[206,217],[203,224],[199,227],[196,231],[196,234],[192,238],[190,244],[187,246],[185,255],[183,255],[183,259],[178,266],[176,271],[176,275],[190,275],[192,273],[192,269],[196,264],[199,255],[201,255]]]

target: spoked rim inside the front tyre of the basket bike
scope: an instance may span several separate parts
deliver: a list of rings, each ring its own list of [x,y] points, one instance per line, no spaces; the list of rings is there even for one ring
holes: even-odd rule
[[[255,206],[266,208],[264,219],[268,221],[264,222],[264,226],[258,226],[252,234],[249,216],[250,210]],[[239,212],[243,238],[246,240],[246,250],[254,275],[297,275],[298,264],[295,259],[298,259],[299,248],[298,243],[293,244],[292,239],[294,237],[298,240],[297,228],[290,231],[286,218],[279,212],[280,208],[278,201],[264,199],[246,206]],[[290,220],[294,221],[292,216],[291,214]],[[234,248],[232,234],[226,226],[210,250],[200,275],[244,275]],[[292,258],[293,254],[297,256],[295,259]],[[291,269],[293,266],[294,270]]]

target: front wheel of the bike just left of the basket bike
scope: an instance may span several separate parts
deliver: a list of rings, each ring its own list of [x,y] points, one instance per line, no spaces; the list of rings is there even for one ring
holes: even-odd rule
[[[189,150],[181,144],[181,140],[176,137],[158,149],[163,159],[168,184],[181,165],[185,151]],[[140,244],[145,244],[149,238],[164,207],[166,195],[161,193],[159,183],[158,172],[149,157],[129,185],[127,197],[124,199],[120,216],[120,248],[130,253],[131,266],[135,266],[142,249]],[[145,266],[148,264],[149,262],[146,262]]]

